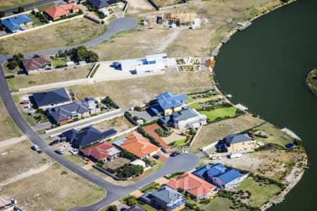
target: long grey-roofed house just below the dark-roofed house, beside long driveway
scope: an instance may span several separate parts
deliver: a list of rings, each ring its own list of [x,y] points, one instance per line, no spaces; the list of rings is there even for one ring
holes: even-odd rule
[[[68,103],[63,106],[47,108],[46,113],[52,124],[66,124],[73,118],[82,118],[92,115],[99,110],[94,98],[85,98],[81,101]]]

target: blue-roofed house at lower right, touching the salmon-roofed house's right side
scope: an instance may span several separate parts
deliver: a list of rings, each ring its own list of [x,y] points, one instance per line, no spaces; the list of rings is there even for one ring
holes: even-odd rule
[[[192,174],[206,179],[211,184],[218,186],[218,188],[231,189],[240,186],[243,175],[237,170],[226,168],[221,163],[216,163],[213,166],[204,165]]]

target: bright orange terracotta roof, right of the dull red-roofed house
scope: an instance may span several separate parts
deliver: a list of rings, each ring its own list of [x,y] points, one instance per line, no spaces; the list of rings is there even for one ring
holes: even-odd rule
[[[136,155],[138,158],[142,158],[143,155],[149,155],[159,149],[158,146],[150,143],[147,139],[136,134],[131,134],[127,137],[127,140],[120,146],[120,148],[129,151]]]

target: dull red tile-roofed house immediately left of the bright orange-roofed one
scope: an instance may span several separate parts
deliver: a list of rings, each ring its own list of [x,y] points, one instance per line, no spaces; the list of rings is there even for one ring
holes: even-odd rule
[[[120,149],[113,146],[107,141],[97,143],[94,146],[89,146],[81,151],[83,155],[94,160],[99,161],[106,158],[113,158],[120,153]]]

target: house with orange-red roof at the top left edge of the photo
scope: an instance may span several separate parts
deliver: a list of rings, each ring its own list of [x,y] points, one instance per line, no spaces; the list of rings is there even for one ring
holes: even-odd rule
[[[79,11],[79,7],[76,4],[64,4],[64,5],[56,5],[51,6],[50,8],[46,8],[44,13],[49,15],[51,20],[58,20],[59,18],[67,17],[68,15],[72,15],[73,13],[77,13]]]

